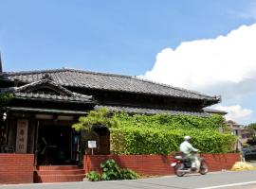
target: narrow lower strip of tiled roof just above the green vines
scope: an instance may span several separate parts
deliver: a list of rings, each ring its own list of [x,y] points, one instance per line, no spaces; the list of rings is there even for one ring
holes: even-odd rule
[[[187,112],[187,111],[171,111],[171,110],[160,110],[160,109],[142,109],[134,107],[120,107],[120,106],[102,106],[96,105],[95,110],[101,108],[107,108],[112,112],[128,112],[128,113],[139,113],[139,114],[156,114],[156,113],[168,113],[168,114],[185,114],[185,115],[195,115],[200,117],[210,116],[207,112]]]

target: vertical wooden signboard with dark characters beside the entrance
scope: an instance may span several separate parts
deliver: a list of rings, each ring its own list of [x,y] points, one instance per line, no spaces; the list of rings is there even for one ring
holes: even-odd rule
[[[16,153],[27,153],[27,119],[18,119],[16,135]]]

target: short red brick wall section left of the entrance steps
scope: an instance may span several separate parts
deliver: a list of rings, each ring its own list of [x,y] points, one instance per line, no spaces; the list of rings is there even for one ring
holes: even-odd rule
[[[34,154],[0,153],[0,183],[32,183]]]

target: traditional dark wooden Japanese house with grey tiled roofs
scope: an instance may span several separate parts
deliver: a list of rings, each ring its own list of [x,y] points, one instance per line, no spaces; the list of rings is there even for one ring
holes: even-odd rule
[[[90,110],[208,116],[203,108],[220,97],[138,77],[75,69],[2,72],[1,93],[13,94],[3,108],[2,152],[34,154],[34,164],[78,164],[80,133],[71,128]],[[96,154],[109,154],[109,131],[99,134]]]

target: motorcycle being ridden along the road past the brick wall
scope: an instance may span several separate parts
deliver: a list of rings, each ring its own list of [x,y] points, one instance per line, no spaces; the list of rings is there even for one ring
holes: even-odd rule
[[[204,160],[204,158],[200,157],[199,154],[196,153],[196,155],[198,156],[198,160],[200,162],[199,168],[192,167],[191,160],[185,158],[182,152],[174,155],[174,163],[171,163],[171,166],[174,167],[174,174],[178,177],[183,177],[185,174],[196,172],[199,172],[201,175],[207,174],[208,165],[206,161]]]

